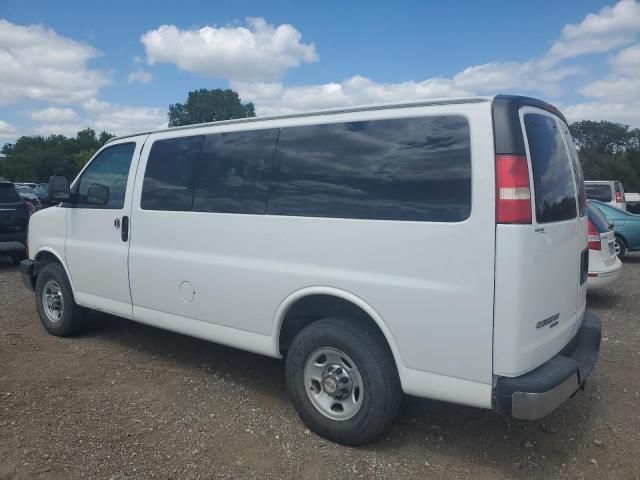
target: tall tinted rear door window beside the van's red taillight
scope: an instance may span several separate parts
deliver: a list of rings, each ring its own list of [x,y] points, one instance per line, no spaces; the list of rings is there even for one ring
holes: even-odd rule
[[[538,223],[557,222],[577,216],[575,183],[557,122],[546,115],[524,116]]]

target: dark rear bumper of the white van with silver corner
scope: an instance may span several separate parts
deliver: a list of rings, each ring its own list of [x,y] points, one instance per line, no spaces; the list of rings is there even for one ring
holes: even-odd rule
[[[601,335],[600,319],[586,311],[576,336],[555,357],[519,377],[498,378],[496,410],[525,420],[549,415],[584,387],[598,358]]]

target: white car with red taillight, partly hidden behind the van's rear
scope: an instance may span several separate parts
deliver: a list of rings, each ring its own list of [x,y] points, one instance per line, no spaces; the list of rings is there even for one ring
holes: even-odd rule
[[[587,288],[595,290],[615,283],[622,275],[616,255],[616,235],[606,217],[587,202],[589,219],[589,278]]]

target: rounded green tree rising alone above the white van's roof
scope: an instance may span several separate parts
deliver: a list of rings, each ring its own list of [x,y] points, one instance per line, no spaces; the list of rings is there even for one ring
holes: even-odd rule
[[[231,89],[208,90],[201,88],[189,92],[185,103],[169,105],[169,126],[193,125],[217,122],[232,118],[255,117],[253,103],[242,103],[237,92]]]

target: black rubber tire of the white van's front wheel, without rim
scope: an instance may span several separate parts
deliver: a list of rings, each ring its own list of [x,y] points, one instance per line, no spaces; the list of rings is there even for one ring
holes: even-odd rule
[[[63,308],[57,321],[53,321],[49,317],[43,302],[44,290],[50,285],[58,285],[62,296]],[[38,275],[36,280],[36,308],[42,325],[51,335],[68,337],[78,333],[85,326],[83,309],[76,305],[67,275],[57,263],[50,263],[45,266]]]

